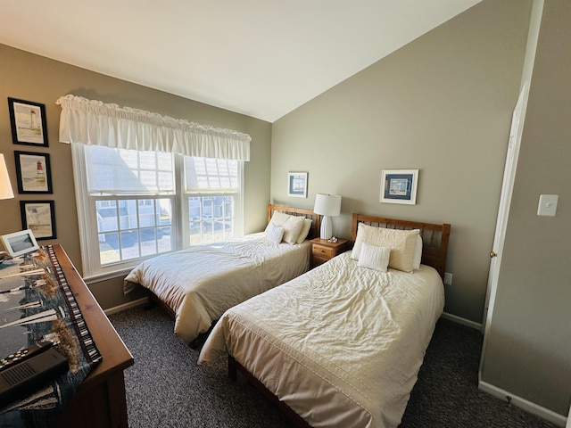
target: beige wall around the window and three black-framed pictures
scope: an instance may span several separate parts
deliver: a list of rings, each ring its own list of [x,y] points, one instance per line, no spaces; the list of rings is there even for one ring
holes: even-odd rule
[[[265,225],[271,149],[271,125],[268,122],[79,69],[6,45],[0,45],[0,82],[0,100],[4,100],[0,103],[0,152],[5,155],[16,196],[12,200],[0,201],[0,235],[21,230],[20,201],[53,200],[57,239],[40,243],[61,243],[76,267],[81,269],[70,145],[58,142],[61,108],[54,103],[67,94],[249,134],[252,136],[252,154],[244,172],[244,232],[256,232]],[[7,97],[46,104],[49,147],[12,144]],[[18,194],[14,151],[49,153],[54,194]],[[103,309],[128,301],[121,292],[121,279],[90,284]]]

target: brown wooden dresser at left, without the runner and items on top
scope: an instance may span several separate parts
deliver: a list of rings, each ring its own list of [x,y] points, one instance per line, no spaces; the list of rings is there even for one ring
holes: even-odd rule
[[[70,289],[78,301],[95,345],[103,355],[103,360],[79,385],[78,391],[63,409],[55,426],[128,428],[123,371],[133,365],[133,356],[79,276],[62,246],[54,245],[54,251]]]

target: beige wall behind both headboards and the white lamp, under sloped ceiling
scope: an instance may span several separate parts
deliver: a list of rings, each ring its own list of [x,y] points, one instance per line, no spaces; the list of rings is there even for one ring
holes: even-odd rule
[[[273,201],[341,194],[342,237],[352,212],[451,223],[445,311],[480,323],[530,11],[477,4],[277,120]],[[383,169],[419,169],[416,205],[378,202]],[[288,170],[309,172],[307,199],[287,197]]]

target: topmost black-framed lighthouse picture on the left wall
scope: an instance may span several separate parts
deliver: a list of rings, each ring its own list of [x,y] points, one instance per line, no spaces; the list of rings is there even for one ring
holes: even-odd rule
[[[13,144],[47,147],[46,105],[8,97]]]

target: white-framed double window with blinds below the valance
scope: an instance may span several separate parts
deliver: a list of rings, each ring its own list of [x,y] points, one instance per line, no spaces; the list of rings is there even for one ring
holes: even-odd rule
[[[241,235],[242,161],[72,147],[84,276]]]

